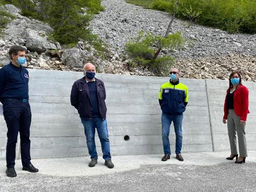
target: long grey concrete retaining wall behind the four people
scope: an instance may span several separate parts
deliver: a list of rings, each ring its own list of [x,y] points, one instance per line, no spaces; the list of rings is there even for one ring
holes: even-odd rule
[[[83,126],[70,105],[70,91],[80,72],[29,70],[31,156],[33,158],[88,155]],[[97,74],[105,83],[107,121],[112,155],[163,154],[161,109],[158,92],[168,78]],[[229,149],[227,128],[222,124],[223,102],[228,82],[180,79],[188,87],[189,102],[183,120],[183,152]],[[250,112],[246,125],[248,149],[255,150],[255,88],[250,89]],[[254,98],[253,98],[254,96]],[[208,99],[207,99],[208,98]],[[173,125],[170,141],[175,152]],[[0,159],[5,159],[6,124],[0,115]],[[125,141],[124,136],[130,140]],[[99,139],[97,152],[101,155]],[[19,141],[17,158],[20,158]]]

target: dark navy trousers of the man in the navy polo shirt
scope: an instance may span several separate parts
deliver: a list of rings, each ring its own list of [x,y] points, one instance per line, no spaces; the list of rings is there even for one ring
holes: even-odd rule
[[[31,111],[29,102],[23,103],[14,99],[5,99],[3,101],[4,117],[7,124],[7,146],[6,163],[11,168],[15,165],[16,143],[18,132],[20,136],[20,153],[22,155],[22,164],[30,164],[30,124]]]

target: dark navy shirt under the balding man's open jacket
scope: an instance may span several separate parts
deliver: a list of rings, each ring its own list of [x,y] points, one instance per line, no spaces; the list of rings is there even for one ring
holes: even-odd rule
[[[95,81],[90,81],[90,82],[87,83],[87,85],[88,85],[89,92],[90,92],[90,99],[92,101],[93,117],[100,117],[96,82]]]

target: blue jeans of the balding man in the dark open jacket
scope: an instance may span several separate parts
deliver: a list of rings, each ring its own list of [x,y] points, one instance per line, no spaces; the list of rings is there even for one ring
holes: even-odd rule
[[[102,120],[99,117],[86,119],[81,117],[81,121],[84,127],[84,134],[86,134],[86,142],[91,159],[98,158],[95,145],[95,128],[97,129],[99,140],[101,143],[103,159],[111,159],[110,141],[106,119]]]

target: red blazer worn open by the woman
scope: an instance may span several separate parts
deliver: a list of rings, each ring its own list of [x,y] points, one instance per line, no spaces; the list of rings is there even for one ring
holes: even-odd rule
[[[230,90],[227,90],[227,93]],[[245,86],[240,85],[234,92],[234,113],[240,117],[240,120],[246,121],[247,114],[250,113],[249,107],[249,91]],[[224,116],[223,119],[227,119],[227,95],[224,103]]]

